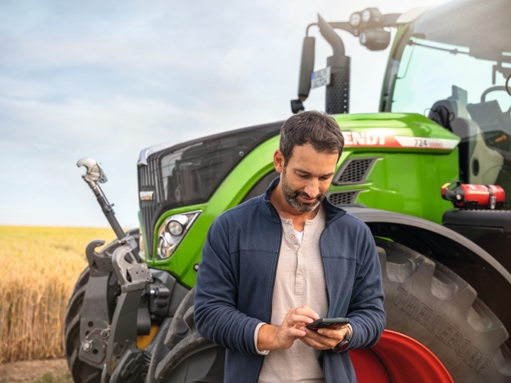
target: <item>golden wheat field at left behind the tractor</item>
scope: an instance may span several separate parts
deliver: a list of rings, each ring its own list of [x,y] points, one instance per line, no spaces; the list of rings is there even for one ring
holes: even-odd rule
[[[110,228],[0,226],[0,363],[63,357],[67,301],[85,246]]]

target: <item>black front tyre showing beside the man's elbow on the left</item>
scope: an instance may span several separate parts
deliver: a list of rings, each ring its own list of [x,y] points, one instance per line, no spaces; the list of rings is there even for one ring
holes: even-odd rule
[[[146,382],[221,383],[224,362],[225,349],[197,333],[192,289],[177,308],[166,336],[162,332],[153,349]]]

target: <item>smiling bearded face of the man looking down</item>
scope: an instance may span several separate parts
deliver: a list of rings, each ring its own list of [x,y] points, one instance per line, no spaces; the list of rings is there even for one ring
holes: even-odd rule
[[[282,172],[280,182],[287,203],[297,211],[316,209],[330,187],[338,157],[317,152],[310,144],[295,146],[287,163],[283,157],[282,162],[278,161],[278,153],[275,153],[275,168]]]

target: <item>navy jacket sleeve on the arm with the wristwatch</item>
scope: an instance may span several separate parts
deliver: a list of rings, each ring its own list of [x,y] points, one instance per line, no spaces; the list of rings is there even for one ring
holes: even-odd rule
[[[373,235],[364,229],[357,238],[360,263],[348,308],[353,335],[347,349],[372,347],[385,329],[380,260]]]

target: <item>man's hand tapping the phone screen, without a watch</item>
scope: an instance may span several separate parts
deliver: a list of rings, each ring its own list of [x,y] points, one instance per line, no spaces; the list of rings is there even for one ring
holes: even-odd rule
[[[265,324],[258,333],[258,350],[287,350],[297,338],[307,335],[307,326],[319,316],[307,306],[290,310],[280,326]]]

